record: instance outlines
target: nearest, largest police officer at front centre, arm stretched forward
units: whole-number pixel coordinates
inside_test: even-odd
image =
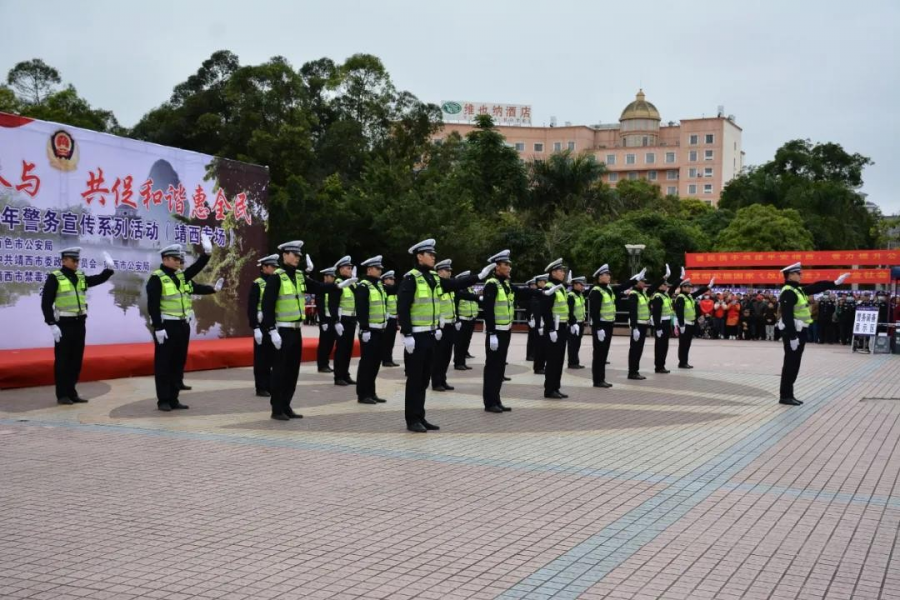
[[[478,277],[441,279],[432,269],[435,263],[435,241],[424,240],[412,246],[415,267],[404,275],[397,292],[397,319],[403,335],[406,357],[406,429],[425,433],[440,429],[425,420],[425,394],[431,379],[435,342],[443,332],[438,329],[441,314],[441,295],[446,290],[458,290],[484,280],[493,269],[485,267]]]

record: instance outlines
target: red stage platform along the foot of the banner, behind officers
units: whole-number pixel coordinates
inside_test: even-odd
[[[303,360],[316,359],[318,338],[304,338]],[[253,338],[192,340],[185,370],[249,367]],[[353,348],[359,356],[359,341]],[[84,349],[81,381],[153,374],[153,344],[108,344]],[[0,389],[53,385],[53,348],[0,350]]]

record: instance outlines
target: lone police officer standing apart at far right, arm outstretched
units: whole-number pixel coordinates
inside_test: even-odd
[[[812,313],[809,308],[809,297],[840,286],[850,276],[844,273],[835,281],[819,281],[812,285],[801,286],[803,267],[794,263],[781,270],[784,273],[784,287],[778,297],[781,308],[781,339],[784,342],[784,364],[781,369],[781,398],[779,403],[789,406],[803,404],[794,397],[794,382],[800,372],[800,361],[806,347],[806,332],[812,324]]]

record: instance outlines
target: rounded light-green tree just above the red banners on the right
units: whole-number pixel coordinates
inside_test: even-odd
[[[737,211],[716,241],[719,252],[813,250],[812,234],[793,209],[754,204]]]

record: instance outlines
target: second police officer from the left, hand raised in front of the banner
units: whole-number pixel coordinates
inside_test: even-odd
[[[156,380],[156,406],[163,412],[187,409],[178,400],[183,387],[184,365],[187,362],[191,322],[194,318],[193,295],[205,295],[222,289],[224,280],[215,286],[194,282],[194,277],[209,262],[212,241],[200,236],[203,254],[187,269],[184,266],[184,250],[180,244],[166,246],[160,252],[162,264],[147,280],[147,312],[153,326],[154,360]]]

